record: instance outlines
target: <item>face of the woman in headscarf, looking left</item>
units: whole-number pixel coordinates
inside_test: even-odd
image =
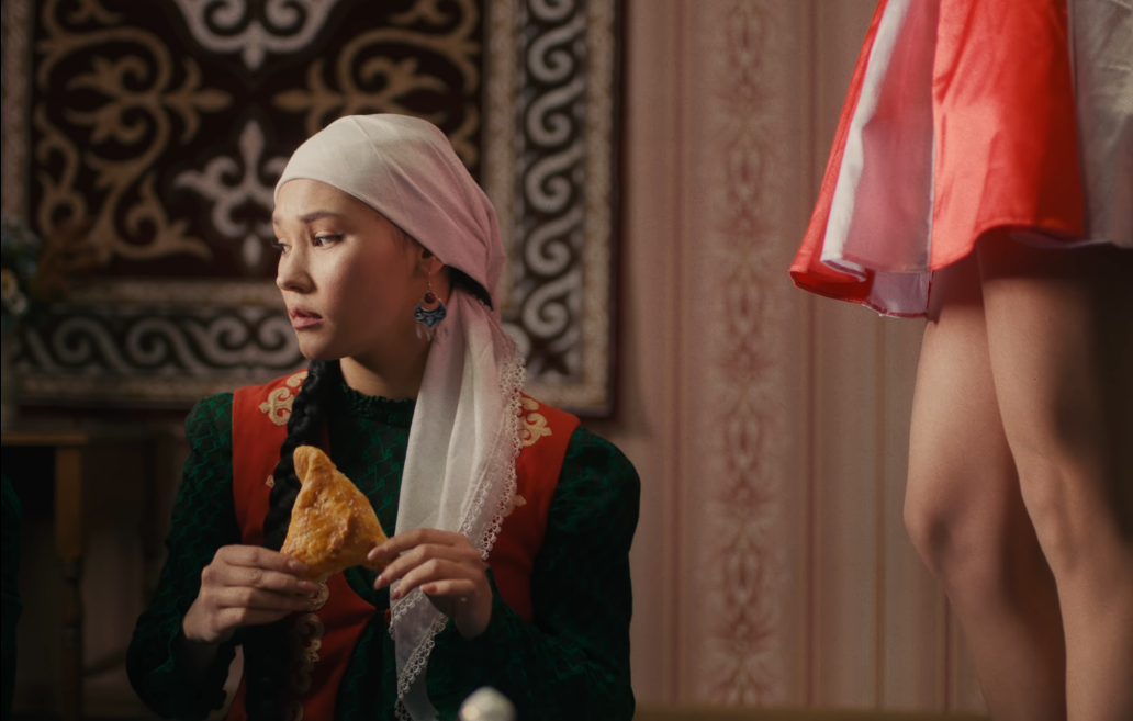
[[[393,223],[333,186],[296,179],[280,188],[272,225],[275,284],[306,358],[381,364],[419,343],[412,314],[428,264]]]

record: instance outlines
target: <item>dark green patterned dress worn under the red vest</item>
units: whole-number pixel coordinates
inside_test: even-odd
[[[331,458],[369,498],[386,529],[397,521],[412,413],[414,401],[365,396],[344,385],[332,394],[327,412]],[[222,687],[241,634],[197,677],[180,666],[176,649],[202,569],[216,549],[240,542],[232,499],[232,395],[197,403],[186,431],[190,450],[165,541],[169,557],[135,628],[127,670],[159,715],[202,719],[224,701]],[[454,719],[480,686],[511,698],[523,721],[633,716],[629,549],[639,493],[637,472],[616,447],[583,428],[574,431],[531,576],[535,617],[516,613],[493,584],[492,621],[483,635],[467,641],[449,623],[426,672],[441,719]],[[387,608],[389,591],[375,592],[374,578],[365,568],[347,572],[363,599]],[[395,688],[393,641],[378,612],[350,658],[335,718],[392,720]]]

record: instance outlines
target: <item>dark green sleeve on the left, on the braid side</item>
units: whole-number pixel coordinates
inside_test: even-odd
[[[221,647],[202,676],[188,673],[176,651],[181,620],[201,590],[201,572],[219,548],[240,542],[232,500],[232,394],[197,403],[185,430],[189,456],[165,539],[169,556],[134,628],[126,670],[134,690],[157,715],[203,719],[224,703],[237,640]]]

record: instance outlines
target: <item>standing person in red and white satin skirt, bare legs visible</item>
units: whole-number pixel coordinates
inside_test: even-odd
[[[798,285],[926,316],[905,521],[997,721],[1133,719],[1133,10],[888,0]]]

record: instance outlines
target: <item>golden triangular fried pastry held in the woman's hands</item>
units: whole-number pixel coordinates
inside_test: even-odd
[[[280,551],[307,565],[307,578],[324,581],[351,566],[381,570],[366,559],[385,540],[373,506],[326,454],[314,446],[295,449],[299,495]]]

